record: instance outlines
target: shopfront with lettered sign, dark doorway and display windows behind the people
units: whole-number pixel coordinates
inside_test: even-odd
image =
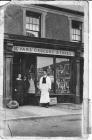
[[[67,95],[71,96],[73,101],[72,59],[75,56],[73,51],[22,46],[13,46],[12,51],[14,52],[13,81],[20,73],[22,77],[26,76],[30,83],[26,93],[28,104],[39,102],[39,80],[44,70],[47,70],[51,78],[50,96],[60,98],[60,96]],[[66,100],[62,99],[63,102],[69,101],[67,96]]]

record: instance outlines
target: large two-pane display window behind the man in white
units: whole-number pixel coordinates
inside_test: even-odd
[[[39,80],[43,76],[43,71],[47,70],[51,78],[50,94],[71,94],[71,61],[67,58],[37,57],[37,94],[39,90]]]

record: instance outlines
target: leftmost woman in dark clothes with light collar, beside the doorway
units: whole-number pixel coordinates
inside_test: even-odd
[[[23,105],[23,94],[24,94],[24,82],[21,77],[21,74],[18,74],[18,77],[15,81],[15,99],[19,103],[20,106]]]

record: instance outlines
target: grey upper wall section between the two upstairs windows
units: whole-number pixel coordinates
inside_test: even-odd
[[[46,38],[69,41],[68,17],[48,13],[46,16]]]

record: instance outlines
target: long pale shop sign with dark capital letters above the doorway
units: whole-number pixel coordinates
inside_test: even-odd
[[[34,47],[20,47],[13,46],[12,51],[14,52],[27,52],[27,53],[39,53],[39,54],[50,54],[50,55],[63,55],[63,56],[75,56],[73,51],[34,48]]]

